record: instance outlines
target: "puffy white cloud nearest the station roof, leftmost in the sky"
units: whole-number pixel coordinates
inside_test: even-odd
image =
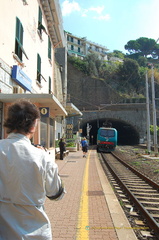
[[[62,3],[62,15],[63,16],[68,16],[70,15],[72,12],[81,11],[81,8],[79,6],[79,4],[75,1],[73,2],[69,2],[69,0],[65,0]]]

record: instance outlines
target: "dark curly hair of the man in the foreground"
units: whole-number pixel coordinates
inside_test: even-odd
[[[8,107],[8,116],[3,126],[7,128],[7,133],[14,130],[29,133],[38,118],[39,109],[29,100],[20,99]]]

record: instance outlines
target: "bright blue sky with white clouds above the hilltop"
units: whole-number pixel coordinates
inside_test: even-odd
[[[126,53],[140,37],[159,38],[159,0],[59,0],[64,30]]]

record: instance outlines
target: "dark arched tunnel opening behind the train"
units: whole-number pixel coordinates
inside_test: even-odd
[[[139,133],[127,122],[115,119],[98,119],[87,123],[81,123],[82,134],[87,136],[87,126],[89,125],[90,132],[88,140],[91,145],[96,145],[97,131],[99,127],[113,127],[118,131],[118,145],[137,145],[139,144]]]

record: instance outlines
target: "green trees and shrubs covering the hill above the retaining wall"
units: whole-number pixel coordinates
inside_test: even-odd
[[[83,60],[69,57],[68,61],[85,75],[102,79],[124,98],[125,102],[145,102],[145,73],[151,78],[151,68],[155,66],[155,82],[159,83],[159,44],[151,38],[130,40],[125,45],[128,54],[114,50],[107,54],[108,60],[100,60],[95,53]],[[112,60],[114,58],[114,60]],[[159,92],[159,86],[156,86]]]

